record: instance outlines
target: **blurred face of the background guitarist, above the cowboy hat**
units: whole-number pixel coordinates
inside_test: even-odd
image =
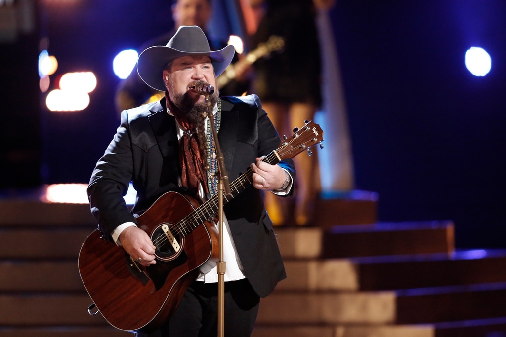
[[[178,0],[172,9],[176,28],[179,26],[199,26],[205,30],[210,16],[209,0]]]

